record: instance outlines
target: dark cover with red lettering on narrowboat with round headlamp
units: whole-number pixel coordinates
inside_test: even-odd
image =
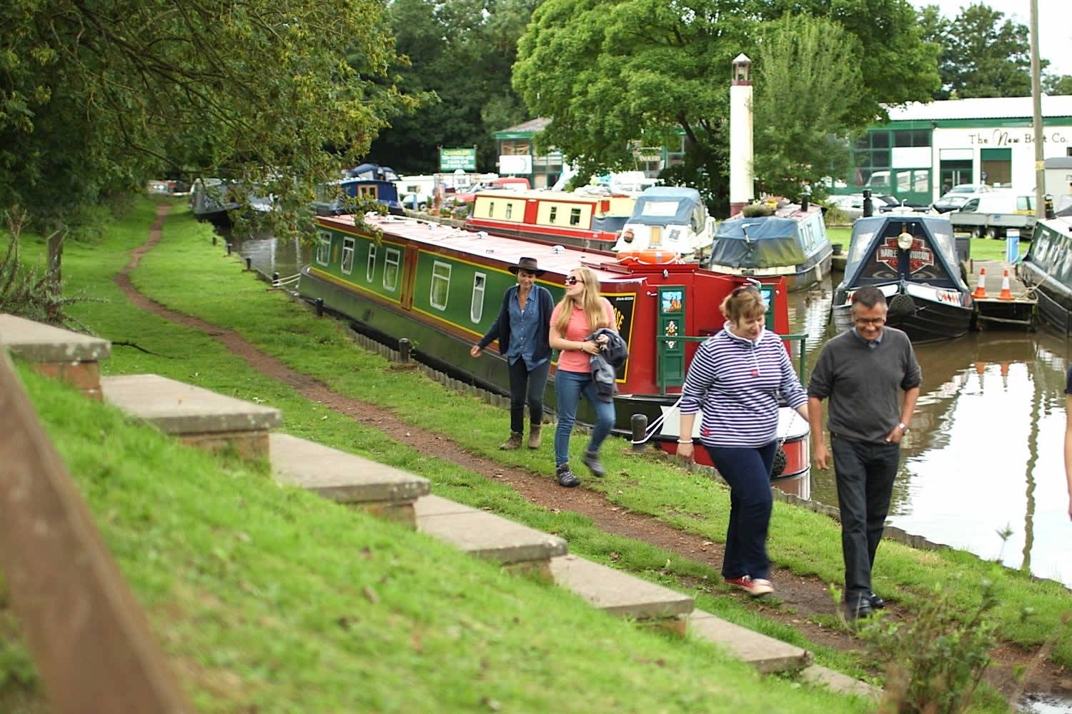
[[[905,256],[908,273],[903,273],[896,247],[902,231],[911,233],[917,244]],[[887,255],[889,254],[889,255]],[[956,261],[953,226],[949,218],[927,215],[878,215],[858,218],[845,264],[847,288],[909,279],[940,287],[967,289]]]

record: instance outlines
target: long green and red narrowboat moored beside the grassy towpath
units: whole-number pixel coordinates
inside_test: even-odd
[[[602,252],[493,237],[413,218],[369,214],[366,222],[382,231],[378,239],[355,226],[353,216],[317,218],[316,244],[311,263],[301,271],[299,293],[307,300],[323,300],[325,307],[353,320],[362,332],[388,341],[406,337],[419,354],[501,390],[508,389],[508,377],[497,345],[478,359],[471,358],[468,350],[497,317],[503,293],[516,284],[508,268],[523,256],[536,258],[546,271],[538,282],[555,301],[564,294],[571,269],[592,268],[604,297],[614,306],[617,331],[629,346],[629,359],[619,370],[614,430],[630,435],[634,414],[644,414],[650,424],[664,417],[653,442],[670,453],[676,450],[679,436],[678,410],[672,407],[688,361],[699,341],[721,329],[725,320],[718,306],[723,299],[748,282],[696,263],[620,260]],[[786,335],[785,278],[764,279],[759,287],[770,306],[768,328]],[[553,382],[546,400],[553,409]],[[582,401],[579,421],[592,423],[587,409]],[[807,424],[788,408],[783,412],[779,438],[785,438],[787,466],[781,475],[804,476],[809,460]],[[697,419],[697,430],[699,426]],[[698,458],[706,457],[703,450],[697,453]]]

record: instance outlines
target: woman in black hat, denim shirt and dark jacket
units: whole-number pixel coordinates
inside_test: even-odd
[[[510,371],[510,438],[500,449],[521,446],[525,401],[528,401],[528,447],[539,449],[540,424],[544,421],[544,391],[551,370],[551,345],[548,334],[554,300],[547,288],[536,285],[544,274],[535,258],[521,258],[510,272],[518,276],[517,286],[503,295],[491,330],[470,350],[480,356],[488,345],[498,340],[498,351],[506,358]]]

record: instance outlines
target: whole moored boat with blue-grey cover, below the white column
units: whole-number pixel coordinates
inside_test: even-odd
[[[772,215],[721,222],[708,267],[731,275],[784,275],[790,290],[801,290],[830,273],[833,253],[822,209],[790,203]]]

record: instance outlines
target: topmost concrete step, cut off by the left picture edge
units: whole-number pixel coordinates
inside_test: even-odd
[[[99,362],[111,356],[108,340],[14,315],[0,315],[0,345],[12,356],[31,363],[36,371],[66,382],[94,399],[101,398]]]

